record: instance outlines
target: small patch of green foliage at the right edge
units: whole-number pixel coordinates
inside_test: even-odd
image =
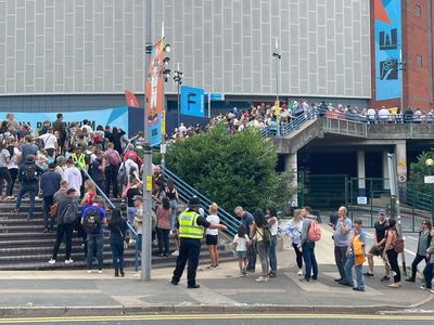
[[[424,177],[425,176],[434,176],[434,166],[426,166],[426,159],[434,159],[434,152],[423,152],[418,156],[418,161],[412,162],[410,165],[410,177],[408,186],[411,190],[425,193],[433,194],[434,184],[425,184]]]

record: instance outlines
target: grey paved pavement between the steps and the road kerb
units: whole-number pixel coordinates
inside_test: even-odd
[[[375,260],[373,278],[366,278],[366,291],[358,292],[334,282],[330,229],[322,226],[316,255],[318,281],[299,282],[295,255],[284,243],[278,252],[279,271],[268,283],[256,283],[259,275],[239,275],[238,262],[222,263],[218,270],[197,272],[201,288],[188,289],[186,278],[178,286],[169,283],[173,268],[153,270],[152,280],[140,281],[133,270],[126,277],[114,277],[113,270],[88,274],[85,270],[0,272],[0,317],[117,315],[136,313],[375,313],[399,311],[434,312],[434,295],[421,290],[420,282],[399,289],[381,283],[384,266]],[[410,257],[411,258],[411,257]],[[412,259],[412,258],[411,258]],[[260,270],[259,263],[256,266]],[[187,270],[186,270],[187,271]],[[186,276],[186,274],[184,274]]]

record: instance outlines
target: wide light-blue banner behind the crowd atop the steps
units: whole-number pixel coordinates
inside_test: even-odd
[[[13,113],[15,119],[23,123],[28,123],[34,131],[40,128],[44,120],[55,121],[58,112],[0,112],[0,120],[7,118],[8,113]],[[98,126],[111,126],[124,130],[128,134],[128,107],[95,108],[92,110],[62,112],[63,120],[66,123],[78,122],[81,125],[84,119],[90,121],[92,129]]]

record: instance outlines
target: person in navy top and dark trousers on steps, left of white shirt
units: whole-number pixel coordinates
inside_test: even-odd
[[[61,187],[62,177],[54,171],[55,164],[48,165],[48,170],[40,178],[40,190],[42,191],[43,232],[53,230],[54,220],[49,218],[50,207],[54,204],[54,193]]]

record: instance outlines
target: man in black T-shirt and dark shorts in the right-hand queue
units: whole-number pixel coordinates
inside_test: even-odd
[[[373,234],[373,246],[367,253],[368,258],[368,272],[363,275],[368,277],[373,277],[373,257],[374,256],[383,256],[384,246],[386,243],[386,231],[387,231],[387,216],[385,210],[379,211],[379,219],[376,220],[375,224],[375,232]],[[391,280],[391,270],[385,264],[386,274],[381,278],[381,281],[390,281]]]

